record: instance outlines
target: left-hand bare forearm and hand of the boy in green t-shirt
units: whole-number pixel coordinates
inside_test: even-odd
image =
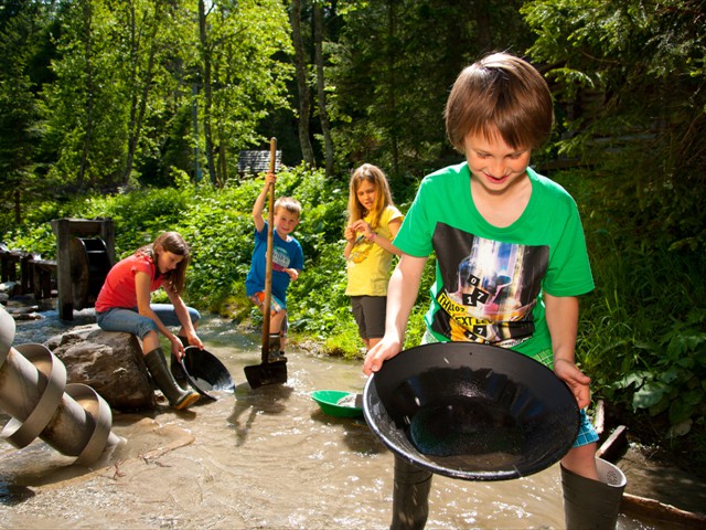
[[[385,337],[365,356],[363,372],[377,372],[383,362],[402,351],[409,314],[417,300],[426,257],[403,254],[387,286],[387,317]]]

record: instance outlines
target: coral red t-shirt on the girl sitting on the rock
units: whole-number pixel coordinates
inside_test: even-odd
[[[150,279],[150,293],[162,286],[162,276],[154,277],[156,266],[152,258],[145,254],[132,254],[118,262],[108,273],[98,298],[96,311],[103,312],[114,307],[132,309],[137,307],[135,273],[147,274]]]

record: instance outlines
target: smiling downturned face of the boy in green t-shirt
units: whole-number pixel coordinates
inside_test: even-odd
[[[530,148],[510,147],[499,134],[491,139],[483,134],[469,134],[463,145],[471,173],[489,193],[503,193],[526,176]]]

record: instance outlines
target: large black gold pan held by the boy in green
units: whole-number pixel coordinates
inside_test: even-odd
[[[505,480],[571,448],[579,411],[568,386],[515,351],[448,342],[402,351],[367,380],[363,412],[396,456],[439,475]]]

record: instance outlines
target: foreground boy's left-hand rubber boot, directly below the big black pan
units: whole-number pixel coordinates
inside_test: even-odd
[[[421,530],[429,516],[432,474],[395,456],[393,522],[389,530]]]

